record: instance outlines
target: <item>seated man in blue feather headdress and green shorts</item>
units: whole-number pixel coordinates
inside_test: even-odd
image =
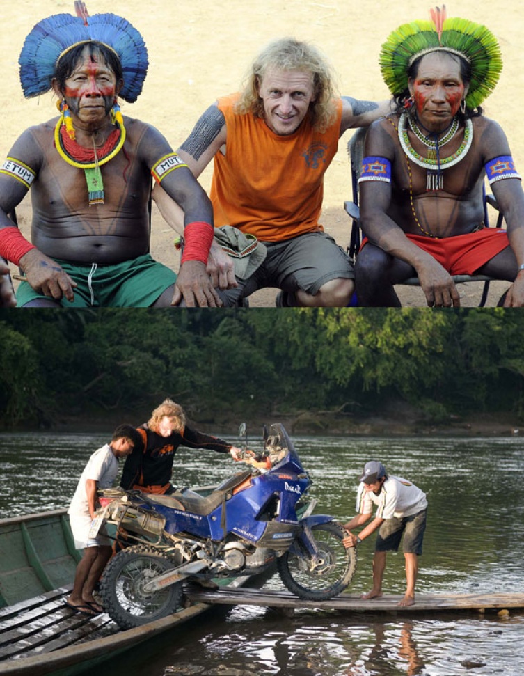
[[[148,70],[143,38],[113,14],[43,19],[19,58],[26,97],[54,91],[60,116],[26,129],[0,164],[0,256],[24,281],[19,307],[218,306],[206,273],[212,205],[162,134],[122,116]],[[177,277],[152,259],[152,177],[184,205]],[[8,214],[32,188],[32,242]]]

